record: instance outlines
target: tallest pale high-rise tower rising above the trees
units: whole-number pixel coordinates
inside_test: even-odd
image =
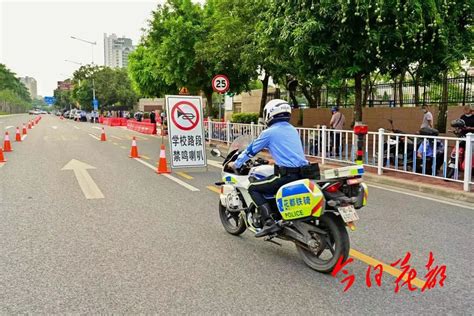
[[[111,68],[127,68],[128,55],[134,50],[132,40],[104,33],[104,64]]]

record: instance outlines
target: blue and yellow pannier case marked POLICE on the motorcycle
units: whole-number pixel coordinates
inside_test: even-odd
[[[293,181],[282,186],[276,194],[276,203],[284,220],[319,217],[323,214],[325,206],[323,192],[309,179]]]

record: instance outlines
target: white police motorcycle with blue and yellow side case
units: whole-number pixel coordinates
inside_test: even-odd
[[[365,134],[367,130],[365,129]],[[360,139],[362,157],[363,134]],[[211,154],[224,159],[219,199],[219,216],[224,229],[240,235],[246,229],[256,233],[263,227],[258,209],[248,193],[251,182],[271,176],[273,165],[263,158],[248,160],[239,170],[228,166],[251,143],[250,136],[240,136],[230,146],[227,156],[214,148]],[[350,242],[346,226],[355,230],[358,209],[367,204],[368,189],[362,181],[362,163],[326,170],[315,178],[283,185],[275,196],[266,196],[273,208],[273,219],[281,230],[266,236],[295,243],[303,261],[312,269],[331,272],[338,259],[349,256]]]

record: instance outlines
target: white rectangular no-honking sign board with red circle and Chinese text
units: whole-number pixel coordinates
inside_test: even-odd
[[[202,98],[166,96],[171,168],[207,167]]]

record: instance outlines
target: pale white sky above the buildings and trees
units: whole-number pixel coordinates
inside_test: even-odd
[[[57,81],[87,64],[104,64],[104,33],[131,38],[137,45],[158,0],[0,0],[0,63],[18,77],[37,81],[38,95],[51,96]]]

